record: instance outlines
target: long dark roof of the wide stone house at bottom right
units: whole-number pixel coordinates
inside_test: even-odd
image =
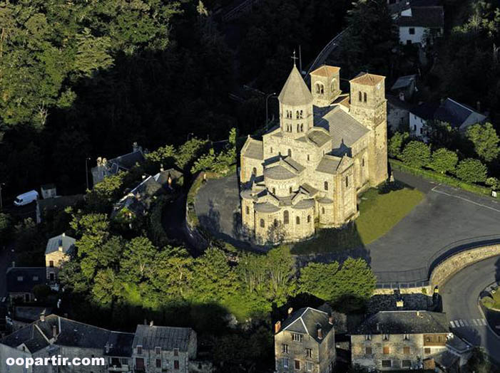
[[[354,335],[422,334],[449,332],[446,313],[429,311],[380,311],[359,325]]]

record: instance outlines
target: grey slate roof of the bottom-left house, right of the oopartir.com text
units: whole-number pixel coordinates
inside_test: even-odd
[[[195,332],[190,327],[137,325],[133,348],[142,345],[143,350],[161,347],[165,351],[178,348],[179,351],[187,352],[190,339],[193,337],[195,337]]]

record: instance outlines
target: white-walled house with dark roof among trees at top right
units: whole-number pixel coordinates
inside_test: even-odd
[[[425,46],[442,35],[444,9],[442,6],[411,6],[401,11],[396,23],[399,43]]]

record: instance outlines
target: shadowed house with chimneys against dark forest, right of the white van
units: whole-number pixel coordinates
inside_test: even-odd
[[[141,164],[144,162],[144,154],[143,148],[134,142],[132,152],[128,154],[113,159],[98,157],[97,166],[91,169],[93,185],[102,182],[105,177],[116,175],[119,171],[128,171],[136,164]]]

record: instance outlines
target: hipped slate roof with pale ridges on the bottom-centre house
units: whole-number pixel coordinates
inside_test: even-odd
[[[323,339],[317,337],[317,328],[321,327]],[[315,310],[314,308],[300,308],[282,322],[281,330],[289,332],[297,332],[303,335],[310,335],[317,342],[321,343],[325,340],[327,334],[332,330],[333,325],[328,322],[327,312]]]

